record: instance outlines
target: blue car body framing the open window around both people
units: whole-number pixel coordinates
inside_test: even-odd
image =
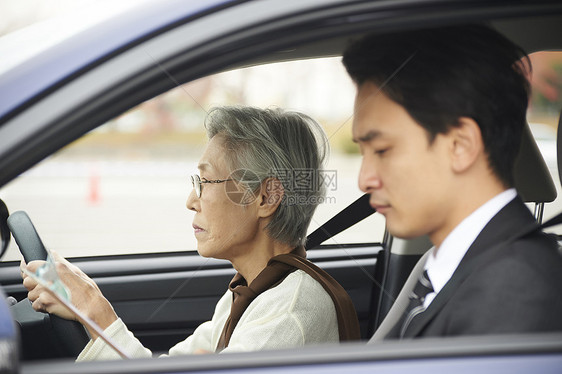
[[[307,50],[289,48],[293,43],[336,40],[338,33],[352,35],[369,24],[394,30],[526,14],[560,16],[562,7],[549,1],[141,3],[0,74],[0,187],[104,121],[177,84],[235,66],[308,56]],[[328,56],[337,51],[341,44],[318,53]],[[5,367],[18,370],[15,339],[8,309],[0,303],[0,372]],[[85,363],[79,370],[68,360],[23,362],[20,369],[59,374],[561,373],[562,335],[350,344],[225,355],[220,360],[207,356]]]

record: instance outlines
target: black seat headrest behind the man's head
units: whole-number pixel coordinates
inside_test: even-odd
[[[558,139],[560,136],[560,131],[558,131]],[[557,144],[558,171],[560,172],[561,142],[557,141]],[[515,159],[513,172],[515,188],[525,202],[549,203],[556,199],[556,186],[528,124],[523,129],[521,147]]]

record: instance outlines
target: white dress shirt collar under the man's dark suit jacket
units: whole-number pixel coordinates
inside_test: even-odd
[[[427,270],[434,292],[425,297],[424,306],[426,308],[451,279],[468,248],[488,222],[516,196],[517,192],[514,188],[496,195],[455,227],[443,240],[439,250],[436,250],[435,247],[430,249],[431,252],[424,268]]]

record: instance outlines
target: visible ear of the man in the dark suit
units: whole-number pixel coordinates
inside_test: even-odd
[[[453,171],[468,170],[484,155],[484,141],[478,123],[469,117],[460,117],[458,125],[451,128],[447,136],[451,139],[451,165]]]

